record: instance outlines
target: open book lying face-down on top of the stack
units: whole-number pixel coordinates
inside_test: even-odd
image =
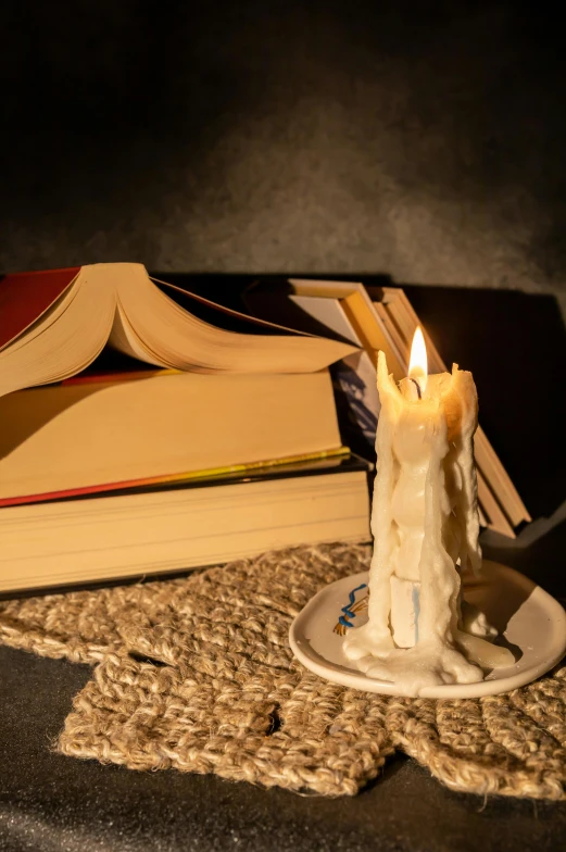
[[[200,318],[203,311],[246,333]],[[0,396],[73,376],[106,342],[149,364],[198,373],[312,373],[354,351],[153,281],[137,263],[8,275],[0,281]]]

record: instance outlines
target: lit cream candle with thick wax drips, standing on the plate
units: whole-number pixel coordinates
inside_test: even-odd
[[[406,694],[481,680],[483,669],[514,659],[486,641],[493,630],[485,619],[467,629],[462,619],[461,572],[481,566],[474,378],[457,365],[428,376],[417,329],[407,378],[398,387],[380,352],[377,387],[368,622],[349,632],[344,653]]]

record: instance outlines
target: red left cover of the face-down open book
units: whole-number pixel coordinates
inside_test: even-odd
[[[0,350],[39,320],[79,272],[80,266],[73,266],[0,278]]]

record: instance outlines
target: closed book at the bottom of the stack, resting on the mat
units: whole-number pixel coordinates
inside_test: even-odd
[[[355,456],[0,510],[0,592],[186,571],[275,548],[369,540]]]

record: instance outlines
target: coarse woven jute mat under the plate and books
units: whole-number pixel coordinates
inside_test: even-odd
[[[352,795],[401,749],[453,790],[566,798],[566,667],[505,696],[374,696],[306,672],[292,618],[366,546],[271,552],[188,578],[0,603],[0,641],[90,663],[58,749],[131,769]]]

